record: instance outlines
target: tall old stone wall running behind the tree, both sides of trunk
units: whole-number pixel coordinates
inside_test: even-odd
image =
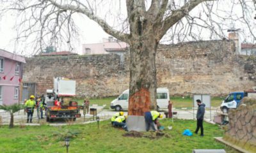
[[[207,93],[212,96],[255,86],[256,61],[236,54],[232,41],[197,41],[159,45],[157,85],[172,95]],[[24,82],[36,82],[43,94],[53,77],[77,82],[79,96],[116,96],[129,88],[129,54],[72,55],[26,59]]]

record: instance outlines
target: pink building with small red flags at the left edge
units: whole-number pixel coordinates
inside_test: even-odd
[[[19,103],[24,63],[24,57],[0,49],[0,105]]]

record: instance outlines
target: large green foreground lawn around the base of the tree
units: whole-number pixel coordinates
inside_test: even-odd
[[[168,119],[160,121],[163,126],[172,125]],[[194,120],[175,120],[172,130],[164,130],[165,136],[158,139],[132,138],[122,136],[125,131],[113,128],[109,121],[72,126],[16,126],[0,128],[1,152],[65,152],[63,138],[54,135],[69,129],[81,133],[70,140],[70,152],[192,152],[193,149],[225,149],[214,140],[222,136],[223,131],[216,125],[204,123],[205,136],[182,136],[184,129],[194,131]]]

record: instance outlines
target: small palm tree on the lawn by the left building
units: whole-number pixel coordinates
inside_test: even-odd
[[[0,105],[0,110],[5,110],[6,112],[9,112],[11,115],[10,124],[9,124],[10,128],[13,128],[13,121],[14,121],[13,113],[18,112],[21,109],[22,109],[22,106],[19,104]]]

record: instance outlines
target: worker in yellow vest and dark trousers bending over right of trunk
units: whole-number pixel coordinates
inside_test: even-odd
[[[150,129],[150,127],[152,127],[152,129],[154,131],[157,131],[157,129],[155,127],[155,122],[157,124],[158,123],[157,119],[158,118],[162,119],[163,115],[161,113],[157,112],[156,110],[152,110],[150,112],[145,112],[144,117],[145,117],[145,122],[146,122],[146,130],[148,131]]]

